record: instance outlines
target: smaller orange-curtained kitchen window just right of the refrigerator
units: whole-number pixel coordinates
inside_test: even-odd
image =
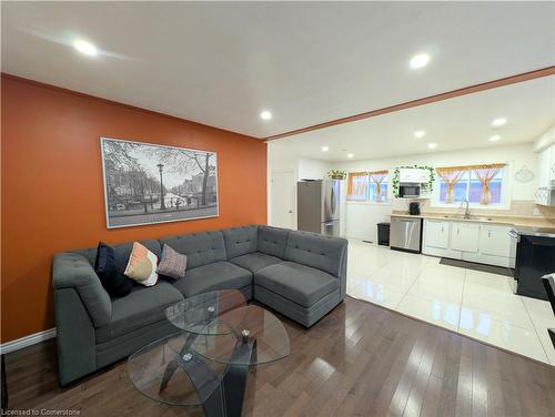
[[[387,200],[387,171],[351,172],[347,200],[383,203]]]

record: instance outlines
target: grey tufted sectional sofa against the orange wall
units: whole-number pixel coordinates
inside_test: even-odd
[[[174,333],[164,309],[195,294],[240,289],[248,301],[256,299],[305,327],[345,297],[347,241],[343,238],[253,225],[141,243],[157,256],[163,244],[185,254],[185,277],[135,286],[128,296],[111,299],[93,269],[95,247],[54,255],[61,385]],[[132,245],[114,250],[127,262]],[[123,263],[118,265],[119,272],[124,268]]]

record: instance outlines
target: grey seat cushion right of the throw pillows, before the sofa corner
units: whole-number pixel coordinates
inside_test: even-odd
[[[230,262],[213,264],[186,269],[183,279],[178,279],[173,286],[185,297],[218,289],[240,289],[251,285],[252,274]]]

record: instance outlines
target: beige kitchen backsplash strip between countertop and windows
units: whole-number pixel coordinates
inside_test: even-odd
[[[396,200],[392,202],[393,211],[408,211],[407,200]],[[534,210],[537,208],[537,214]],[[421,200],[422,213],[457,213],[463,212],[464,207],[460,208],[444,208],[431,206],[430,200]],[[471,213],[490,214],[490,215],[508,215],[508,216],[534,216],[544,218],[555,218],[555,207],[547,207],[537,205],[532,200],[513,200],[509,210],[495,210],[495,208],[475,208],[471,207]]]

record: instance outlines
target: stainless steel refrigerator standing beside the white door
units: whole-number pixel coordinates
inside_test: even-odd
[[[296,183],[296,228],[339,236],[340,180],[300,181]]]

